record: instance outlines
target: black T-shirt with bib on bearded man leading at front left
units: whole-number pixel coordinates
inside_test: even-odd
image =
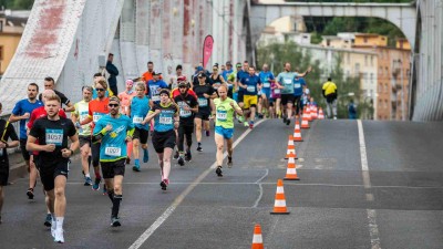
[[[39,144],[55,145],[53,152],[39,152],[39,158],[43,162],[66,162],[69,158],[62,156],[62,148],[68,148],[68,137],[76,134],[76,129],[71,120],[60,117],[58,121],[50,121],[48,116],[39,118],[33,124],[29,135],[39,139]],[[41,164],[40,167],[44,167]]]

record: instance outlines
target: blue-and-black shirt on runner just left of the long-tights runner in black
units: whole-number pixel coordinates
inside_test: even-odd
[[[166,105],[158,103],[150,113],[156,110],[159,110],[161,113],[154,117],[154,131],[163,133],[174,129],[174,116],[178,112],[178,106],[172,102]]]

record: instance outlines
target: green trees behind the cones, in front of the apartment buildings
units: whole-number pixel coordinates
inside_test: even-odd
[[[353,93],[354,96],[361,96],[360,80],[359,77],[344,77],[343,70],[341,69],[341,56],[336,56],[337,63],[332,69],[329,76],[337,84],[338,87],[338,117],[348,118],[348,104],[351,100],[349,93]],[[293,42],[271,43],[266,46],[257,48],[257,63],[258,68],[262,64],[269,64],[272,73],[277,76],[279,72],[284,71],[284,63],[289,62],[291,70],[305,72],[310,65],[312,72],[305,79],[310,90],[311,97],[326,110],[326,100],[322,96],[322,85],[326,82],[322,71],[320,69],[320,61],[312,60],[310,50],[306,50],[303,53],[299,45]],[[358,102],[358,101],[357,101]],[[359,105],[358,115],[363,112],[371,112],[369,106]],[[373,113],[373,110],[372,110]],[[360,115],[359,115],[360,116]]]

